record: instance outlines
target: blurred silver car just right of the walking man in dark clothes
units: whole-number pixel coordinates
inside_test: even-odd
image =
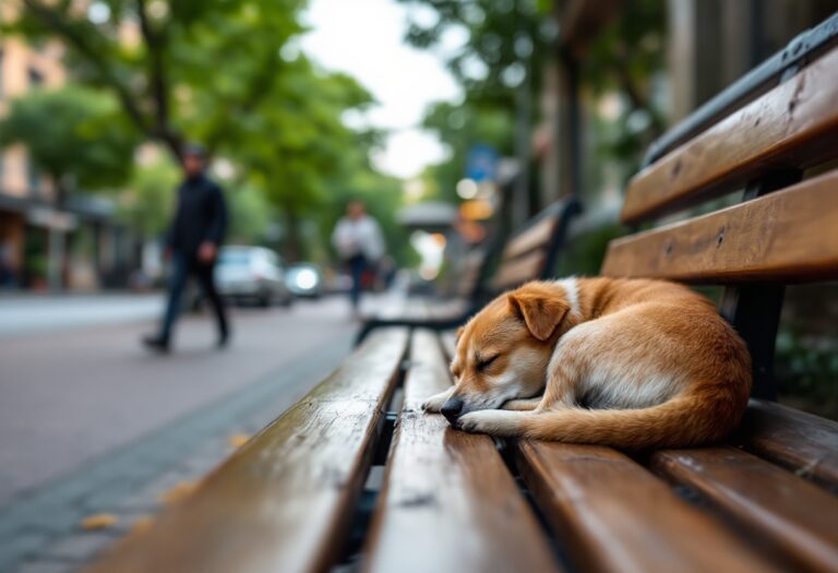
[[[263,307],[273,302],[291,303],[285,286],[285,270],[278,254],[264,247],[222,247],[215,266],[218,291],[236,301],[253,301]]]

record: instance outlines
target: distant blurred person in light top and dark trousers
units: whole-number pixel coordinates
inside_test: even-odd
[[[384,255],[381,227],[367,214],[363,203],[352,201],[346,207],[346,215],[337,222],[332,242],[352,278],[349,300],[357,315],[364,277],[374,274],[375,265]]]

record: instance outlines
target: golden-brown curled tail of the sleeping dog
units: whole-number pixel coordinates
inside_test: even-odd
[[[720,440],[733,430],[747,404],[744,390],[709,387],[647,408],[532,411],[507,421],[515,427],[510,433],[540,440],[628,450],[684,447]]]

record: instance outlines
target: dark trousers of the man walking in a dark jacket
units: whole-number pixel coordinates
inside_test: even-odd
[[[227,315],[224,310],[224,300],[222,300],[218,290],[215,288],[215,278],[213,277],[215,263],[203,263],[197,260],[196,255],[189,256],[182,253],[175,253],[171,258],[171,262],[169,300],[166,306],[166,317],[163,321],[160,337],[167,343],[171,338],[175,321],[178,320],[178,314],[180,313],[183,289],[187,286],[189,277],[194,276],[215,312],[215,318],[218,323],[219,339],[226,338],[228,334]]]

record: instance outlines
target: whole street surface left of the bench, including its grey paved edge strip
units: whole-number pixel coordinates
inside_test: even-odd
[[[165,490],[229,455],[231,435],[259,431],[325,378],[357,327],[342,298],[240,308],[232,344],[217,350],[208,314],[185,315],[175,351],[157,356],[140,337],[161,305],[0,300],[0,570],[84,563],[159,511]],[[121,526],[80,532],[96,512]]]

